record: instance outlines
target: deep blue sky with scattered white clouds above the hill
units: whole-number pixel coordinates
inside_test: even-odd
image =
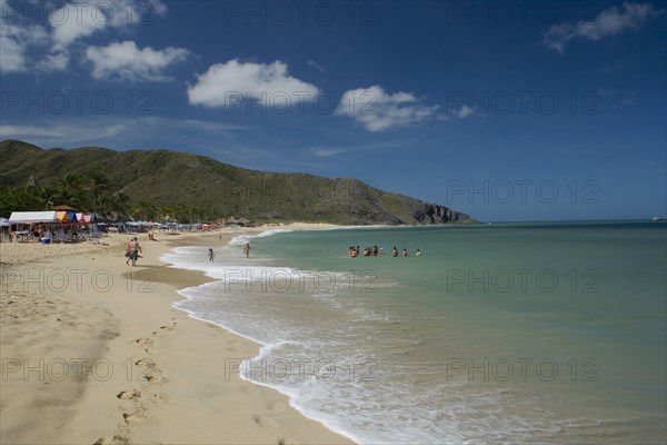
[[[667,214],[665,2],[0,6],[2,139],[356,177],[480,220]]]

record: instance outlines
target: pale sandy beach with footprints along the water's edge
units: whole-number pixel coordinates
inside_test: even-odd
[[[328,228],[290,228],[318,227]],[[270,228],[139,235],[136,268],[125,264],[127,235],[0,244],[0,443],[350,443],[239,378],[258,344],[171,306],[176,290],[210,278],[160,255]]]

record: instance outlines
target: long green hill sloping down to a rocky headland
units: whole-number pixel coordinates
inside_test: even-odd
[[[255,171],[177,151],[44,150],[4,140],[0,159],[2,216],[68,204],[83,211],[116,211],[136,219],[475,222],[447,207],[386,192],[357,179]]]

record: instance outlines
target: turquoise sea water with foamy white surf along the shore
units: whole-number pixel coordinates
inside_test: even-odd
[[[271,231],[213,264],[207,249],[166,256],[218,279],[177,306],[260,342],[241,376],[358,442],[665,442],[664,222]]]

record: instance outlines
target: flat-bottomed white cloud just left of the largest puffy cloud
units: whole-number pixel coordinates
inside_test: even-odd
[[[107,47],[88,47],[86,50],[86,58],[92,63],[92,77],[96,79],[119,77],[131,81],[163,81],[168,78],[162,70],[187,57],[188,51],[183,48],[139,49],[130,40]]]

